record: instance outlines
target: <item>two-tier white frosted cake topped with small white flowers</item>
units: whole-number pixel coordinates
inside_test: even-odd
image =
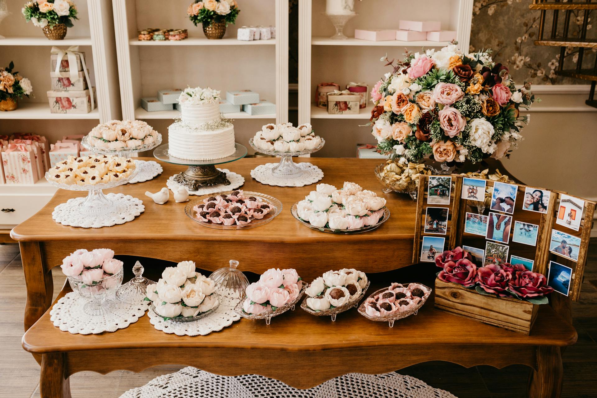
[[[234,126],[220,118],[220,91],[187,88],[179,103],[181,120],[168,127],[168,155],[208,161],[235,152]]]

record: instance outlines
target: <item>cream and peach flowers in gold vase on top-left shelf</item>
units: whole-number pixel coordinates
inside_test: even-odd
[[[70,0],[29,1],[21,9],[21,13],[27,22],[32,21],[38,27],[53,27],[59,23],[73,27],[71,18],[79,19],[76,5]]]

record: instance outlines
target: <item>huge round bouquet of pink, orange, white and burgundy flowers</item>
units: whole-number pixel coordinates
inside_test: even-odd
[[[454,42],[407,53],[396,64],[381,58],[393,71],[371,90],[378,149],[414,163],[427,155],[448,164],[509,156],[529,120],[519,112],[535,98],[530,84],[516,88],[508,68],[490,54],[464,54]]]

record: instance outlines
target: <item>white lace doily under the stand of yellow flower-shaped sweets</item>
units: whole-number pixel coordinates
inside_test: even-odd
[[[109,193],[106,198],[115,203],[113,212],[94,215],[79,212],[79,204],[85,201],[85,196],[83,196],[69,199],[66,203],[56,206],[52,212],[52,218],[64,226],[101,228],[133,221],[135,217],[145,211],[143,202],[131,195]]]

